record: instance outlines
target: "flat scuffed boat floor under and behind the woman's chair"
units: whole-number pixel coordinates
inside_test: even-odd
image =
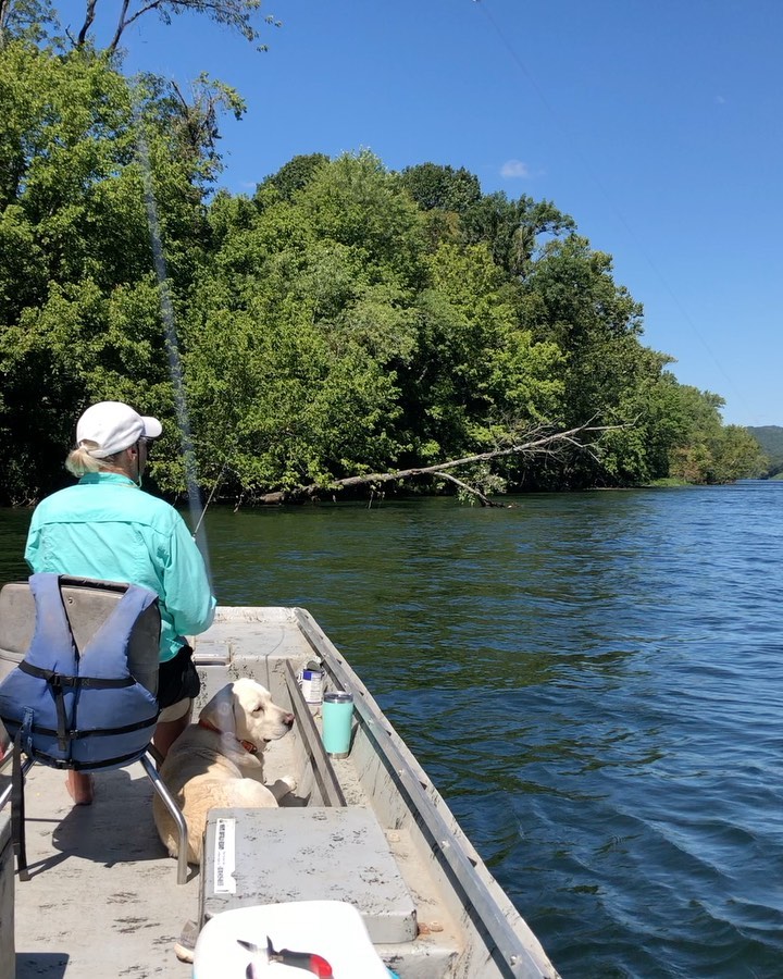
[[[35,766],[25,789],[30,879],[16,880],[16,977],[188,977],[174,943],[198,908],[198,875],[176,863],[152,822],[140,765],[96,776],[73,807],[64,773]]]

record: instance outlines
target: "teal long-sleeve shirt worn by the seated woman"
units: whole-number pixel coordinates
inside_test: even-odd
[[[212,622],[215,599],[185,521],[119,473],[89,473],[36,507],[25,560],[33,571],[123,581],[157,592],[161,661]]]

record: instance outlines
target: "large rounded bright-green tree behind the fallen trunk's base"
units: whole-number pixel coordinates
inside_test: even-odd
[[[415,344],[419,211],[369,153],[261,193],[254,214],[215,199],[220,248],[187,317],[202,468],[264,491],[384,464]]]

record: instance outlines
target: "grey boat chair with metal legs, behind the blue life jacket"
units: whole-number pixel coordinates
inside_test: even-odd
[[[122,582],[59,577],[59,592],[62,597],[62,606],[65,610],[76,650],[85,650],[87,648],[103,623],[115,612],[120,600],[127,591],[128,585]],[[0,590],[0,681],[4,680],[22,662],[30,647],[35,630],[36,602],[29,582],[12,582],[4,585]],[[153,696],[158,693],[159,637],[160,611],[158,603],[153,602],[135,619],[127,645],[127,668],[130,676]],[[110,690],[98,690],[94,692],[94,696],[110,692]],[[136,720],[136,718],[133,720]],[[2,745],[0,745],[1,747]],[[21,751],[24,752],[24,746],[21,746]],[[0,809],[15,796],[13,808],[18,811],[16,822],[21,822],[21,825],[14,834],[16,838],[14,848],[16,850],[20,879],[27,880],[28,873],[24,852],[24,778],[36,761],[39,764],[47,764],[47,761],[41,759],[40,755],[33,758],[29,753],[26,753],[26,757],[20,764],[20,754],[10,751],[0,763],[0,767],[4,767],[16,755],[15,764],[20,765],[18,788],[14,792],[14,780],[12,779],[0,791]],[[158,765],[162,759],[151,742],[147,744],[141,755],[137,753],[135,757],[124,764],[80,766],[58,760],[52,763],[52,767],[65,770],[70,768],[84,768],[87,770],[88,768],[90,771],[98,771],[101,767],[124,768],[135,760],[141,763],[154,791],[160,795],[177,826],[179,834],[177,883],[184,884],[188,878],[187,826],[177,804],[158,774]]]

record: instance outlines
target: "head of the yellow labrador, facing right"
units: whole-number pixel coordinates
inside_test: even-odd
[[[294,724],[294,715],[273,704],[266,687],[247,677],[217,691],[199,717],[224,734],[249,741],[260,752]]]

